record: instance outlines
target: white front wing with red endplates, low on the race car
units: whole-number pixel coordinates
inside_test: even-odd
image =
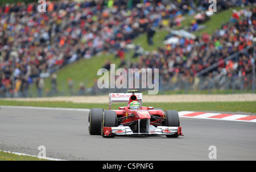
[[[167,126],[154,127],[150,125],[149,132],[133,132],[131,128],[128,126],[104,127],[102,136],[111,137],[111,136],[125,136],[125,135],[174,135],[174,134],[183,136],[181,132],[181,127],[167,127]]]

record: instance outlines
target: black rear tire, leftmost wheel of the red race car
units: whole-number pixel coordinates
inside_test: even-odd
[[[90,135],[101,135],[101,117],[104,109],[93,108],[89,111],[88,130]]]

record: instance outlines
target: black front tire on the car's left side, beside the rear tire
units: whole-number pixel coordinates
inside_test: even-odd
[[[117,113],[113,110],[105,110],[101,118],[101,135],[103,137],[103,128],[104,127],[117,127]],[[114,135],[112,136],[114,137]]]

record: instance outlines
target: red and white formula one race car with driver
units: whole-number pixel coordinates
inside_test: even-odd
[[[137,92],[110,93],[109,110],[90,109],[89,134],[103,137],[183,135],[177,111],[163,111],[160,108],[142,106],[142,93]],[[112,102],[127,102],[127,106],[119,107],[119,110],[111,110]]]

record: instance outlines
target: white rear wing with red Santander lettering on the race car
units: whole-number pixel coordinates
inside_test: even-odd
[[[111,110],[112,102],[129,102],[131,95],[137,97],[137,101],[142,106],[142,93],[109,93],[109,110]]]

